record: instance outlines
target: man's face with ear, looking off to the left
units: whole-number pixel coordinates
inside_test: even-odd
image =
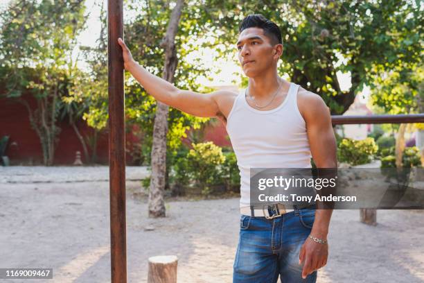
[[[276,64],[282,45],[273,45],[262,28],[246,28],[238,35],[238,61],[246,76],[254,77]],[[281,46],[281,47],[278,47]]]

